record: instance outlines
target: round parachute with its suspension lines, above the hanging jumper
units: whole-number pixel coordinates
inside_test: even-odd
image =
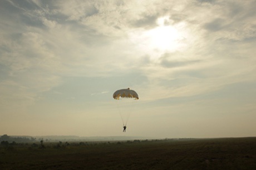
[[[115,91],[113,98],[117,102],[122,123],[126,126],[131,114],[132,105],[134,104],[134,101],[139,99],[139,96],[136,91],[128,88]]]

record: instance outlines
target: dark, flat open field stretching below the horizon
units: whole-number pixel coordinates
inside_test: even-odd
[[[0,147],[0,169],[256,169],[256,137],[27,143]]]

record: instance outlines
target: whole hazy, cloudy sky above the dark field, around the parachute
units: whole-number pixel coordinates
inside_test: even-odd
[[[0,1],[0,135],[256,136],[255,6]]]

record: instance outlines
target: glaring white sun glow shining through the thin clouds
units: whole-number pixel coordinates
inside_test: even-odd
[[[182,50],[186,46],[184,24],[174,26],[168,17],[163,17],[157,19],[157,25],[153,29],[131,34],[132,42],[136,43],[137,48],[161,54]]]

